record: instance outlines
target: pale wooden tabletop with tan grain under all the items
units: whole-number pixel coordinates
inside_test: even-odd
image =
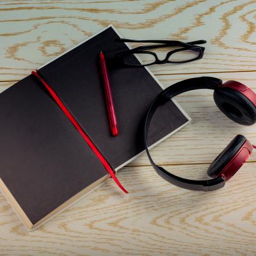
[[[256,1],[244,0],[0,1],[0,88],[112,23],[127,38],[207,40],[200,61],[150,68],[164,86],[215,76],[256,90],[255,22]],[[152,150],[173,173],[204,179],[236,134],[256,143],[255,125],[228,120],[212,92],[177,101],[191,123]],[[255,161],[224,189],[201,193],[165,182],[143,154],[118,173],[129,195],[108,180],[33,232],[0,195],[0,255],[256,255]]]

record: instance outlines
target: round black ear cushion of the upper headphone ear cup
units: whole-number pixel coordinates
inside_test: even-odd
[[[220,86],[214,90],[213,97],[218,108],[234,122],[242,125],[256,123],[256,108],[241,92]]]

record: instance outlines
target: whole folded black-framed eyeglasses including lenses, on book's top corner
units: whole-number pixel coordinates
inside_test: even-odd
[[[204,56],[204,47],[200,47],[196,44],[205,44],[205,40],[198,40],[193,42],[180,42],[172,40],[131,40],[126,38],[118,38],[116,42],[140,42],[140,43],[153,43],[154,45],[143,45],[134,49],[118,52],[115,56],[118,63],[122,63],[125,66],[131,67],[145,67],[154,64],[165,64],[165,63],[186,63],[189,61],[200,60]],[[164,48],[164,47],[180,47],[173,51],[169,51],[166,54],[164,60],[159,60],[157,54],[151,49]],[[140,63],[136,58],[133,57],[136,54],[143,60]]]

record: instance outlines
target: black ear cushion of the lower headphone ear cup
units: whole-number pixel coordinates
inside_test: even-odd
[[[236,156],[236,153],[244,145],[246,138],[239,134],[237,135],[225,149],[217,156],[214,161],[211,163],[207,170],[207,174],[214,178],[227,166],[230,160]]]

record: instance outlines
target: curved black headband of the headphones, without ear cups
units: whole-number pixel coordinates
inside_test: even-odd
[[[215,77],[196,77],[191,79],[186,79],[184,81],[180,81],[179,83],[173,84],[172,86],[163,90],[163,92],[159,93],[157,97],[153,100],[150,108],[148,109],[145,126],[144,126],[144,145],[150,160],[150,163],[156,170],[156,172],[165,180],[172,183],[175,186],[179,186],[180,188],[197,190],[197,191],[213,191],[216,189],[223,188],[225,185],[225,180],[221,177],[216,179],[209,180],[189,180],[184,179],[182,177],[173,175],[170,172],[167,172],[162,166],[158,166],[154,163],[152,157],[150,156],[148,150],[148,128],[150,122],[152,120],[152,116],[154,115],[156,109],[171,100],[176,95],[180,93],[188,92],[191,90],[198,89],[211,89],[214,90],[218,86],[222,84],[222,81]]]

